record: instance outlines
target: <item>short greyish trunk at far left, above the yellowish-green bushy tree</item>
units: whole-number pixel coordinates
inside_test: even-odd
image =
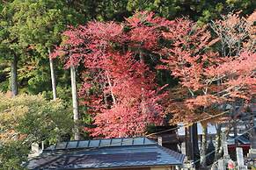
[[[18,57],[16,54],[13,55],[11,61],[11,96],[18,95]]]

